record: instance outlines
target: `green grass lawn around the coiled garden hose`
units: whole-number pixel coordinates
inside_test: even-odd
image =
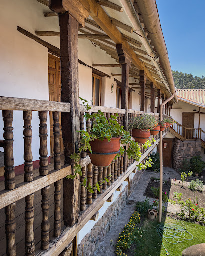
[[[162,219],[162,223],[165,224],[177,224],[181,225],[181,223],[175,219],[172,219],[170,217],[165,217]],[[186,230],[189,231],[193,235],[193,239],[190,241],[183,241],[181,243],[177,244],[171,244],[163,240],[163,244],[167,251],[169,252],[170,256],[181,256],[182,251],[194,244],[198,243],[205,243],[205,226],[197,225],[193,222],[187,222],[187,221],[181,221],[185,227]],[[143,246],[140,248],[140,246],[137,246],[137,249],[134,250],[134,253],[132,255],[134,256],[165,256],[166,251],[163,248],[161,244],[161,240],[159,238],[159,235],[157,234],[156,226],[158,225],[157,221],[149,221],[144,220],[141,229],[143,229]],[[127,253],[128,255],[131,255],[130,253]]]

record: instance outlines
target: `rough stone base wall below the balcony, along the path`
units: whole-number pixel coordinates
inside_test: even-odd
[[[104,215],[96,222],[91,231],[85,235],[81,243],[78,245],[78,256],[82,256],[82,244],[84,244],[84,256],[92,256],[94,251],[98,248],[99,243],[103,240],[110,227],[117,222],[117,218],[121,210],[124,208],[128,195],[132,191],[144,171],[138,171],[130,181],[130,190],[127,186],[118,195],[117,199],[108,207]]]

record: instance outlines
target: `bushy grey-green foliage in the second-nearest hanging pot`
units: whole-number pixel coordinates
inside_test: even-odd
[[[130,120],[128,130],[152,130],[155,126],[157,126],[157,120],[155,117],[152,115],[143,114]]]

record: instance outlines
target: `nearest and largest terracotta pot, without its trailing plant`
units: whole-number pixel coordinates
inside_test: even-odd
[[[103,141],[99,139],[90,141],[92,154],[90,152],[87,153],[92,164],[96,166],[108,166],[119,153],[120,138],[111,138],[111,141],[108,141],[107,138]]]

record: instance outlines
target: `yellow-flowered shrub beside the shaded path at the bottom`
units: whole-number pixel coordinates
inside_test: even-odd
[[[142,231],[136,225],[140,223],[140,215],[137,211],[132,214],[129,223],[125,225],[123,231],[119,234],[119,239],[116,243],[116,255],[126,256],[123,251],[127,251],[131,244],[139,243],[142,239]]]

